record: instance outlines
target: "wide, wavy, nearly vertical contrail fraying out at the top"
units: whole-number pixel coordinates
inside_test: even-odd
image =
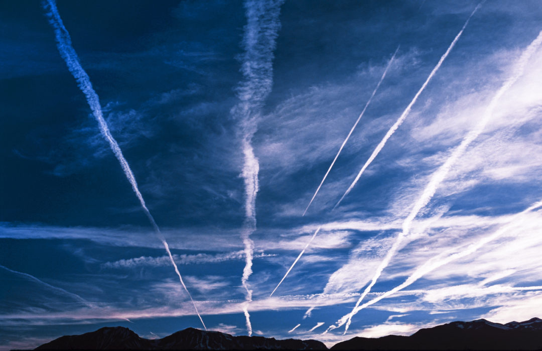
[[[254,155],[251,140],[256,132],[256,119],[261,113],[264,100],[273,84],[273,51],[280,28],[279,14],[282,0],[256,1],[244,3],[247,25],[243,35],[243,62],[241,72],[244,81],[237,89],[241,100],[231,113],[240,120],[241,143],[243,149],[243,171],[245,187],[245,221],[241,232],[243,239],[245,266],[241,284],[244,288],[246,302],[243,313],[247,321],[248,335],[252,335],[252,325],[248,305],[252,301],[252,290],[248,278],[252,274],[252,258],[254,242],[250,234],[256,230],[256,195],[259,189],[258,172],[260,164]]]

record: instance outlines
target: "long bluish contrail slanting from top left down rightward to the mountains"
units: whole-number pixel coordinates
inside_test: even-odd
[[[196,303],[193,301],[192,296],[190,295],[190,292],[186,288],[186,285],[183,282],[183,278],[180,276],[179,270],[177,269],[177,265],[175,264],[175,261],[173,260],[173,257],[171,256],[171,251],[169,249],[169,246],[167,245],[167,242],[164,238],[164,235],[162,235],[162,232],[160,232],[160,228],[156,224],[156,221],[154,221],[153,216],[149,212],[149,209],[145,205],[145,200],[143,199],[143,195],[139,192],[139,188],[137,186],[137,182],[135,181],[135,177],[132,173],[132,170],[130,169],[130,165],[128,165],[128,162],[124,158],[124,155],[122,155],[122,151],[120,150],[119,144],[113,136],[111,135],[111,132],[109,132],[109,127],[107,126],[107,123],[105,122],[104,116],[102,114],[102,109],[100,105],[100,100],[98,98],[98,94],[94,91],[91,83],[91,79],[89,78],[88,74],[85,72],[85,69],[81,66],[81,63],[79,62],[79,57],[77,53],[75,52],[74,48],[72,47],[72,39],[70,39],[68,30],[66,27],[64,27],[64,24],[62,23],[62,18],[60,17],[59,11],[56,8],[55,0],[47,0],[47,2],[43,3],[43,8],[47,11],[47,17],[49,18],[49,23],[53,26],[55,30],[56,35],[56,46],[59,49],[60,55],[62,56],[62,59],[66,61],[66,65],[68,66],[69,71],[74,76],[75,80],[78,82],[78,86],[81,89],[81,91],[85,94],[87,98],[87,103],[91,107],[92,113],[94,115],[94,118],[98,122],[98,126],[100,128],[100,132],[102,136],[106,139],[106,141],[109,143],[109,146],[111,147],[111,150],[113,151],[113,154],[115,154],[115,157],[119,160],[120,167],[124,171],[124,174],[126,175],[126,178],[128,178],[128,181],[130,184],[132,184],[132,189],[135,193],[135,195],[138,197],[139,202],[141,203],[141,207],[143,208],[143,211],[145,212],[145,215],[147,218],[149,218],[149,221],[151,222],[151,225],[154,228],[154,232],[162,241],[162,244],[164,244],[164,247],[167,251],[167,254],[170,257],[171,263],[173,265],[173,268],[175,268],[175,273],[177,273],[177,276],[179,277],[180,284],[183,285],[184,290],[190,297],[190,301],[192,301],[192,304],[194,305],[194,309],[196,310],[196,313],[199,317],[199,320],[203,324],[203,328],[207,330],[207,327],[205,327],[205,323],[203,323],[201,315],[199,315],[199,311],[196,307]]]

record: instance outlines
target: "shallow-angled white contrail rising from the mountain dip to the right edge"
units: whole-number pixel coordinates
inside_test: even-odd
[[[364,309],[366,307],[369,307],[372,304],[377,303],[378,301],[382,300],[383,298],[389,297],[389,296],[393,295],[394,293],[396,293],[397,291],[406,288],[407,286],[409,286],[410,284],[416,282],[416,280],[420,279],[421,277],[423,277],[424,275],[430,273],[431,271],[434,271],[435,269],[437,269],[437,268],[439,268],[439,267],[441,267],[443,265],[446,265],[448,263],[451,263],[451,262],[453,262],[455,260],[461,259],[463,257],[466,257],[466,256],[476,252],[477,250],[479,250],[479,248],[483,247],[488,242],[491,242],[491,241],[493,241],[495,239],[498,239],[499,237],[501,237],[501,235],[507,233],[508,230],[514,225],[514,222],[517,222],[518,220],[521,220],[521,216],[523,216],[526,213],[531,212],[532,210],[534,210],[534,209],[536,209],[538,207],[541,207],[541,206],[542,206],[542,201],[538,201],[538,202],[534,203],[534,205],[532,205],[531,207],[529,207],[529,208],[523,210],[522,212],[517,213],[516,215],[514,215],[511,222],[509,222],[507,225],[501,227],[500,229],[498,229],[498,231],[494,232],[493,234],[488,235],[487,237],[479,240],[475,244],[469,245],[463,251],[451,254],[450,256],[448,256],[446,258],[442,258],[443,254],[438,254],[437,256],[429,259],[423,265],[418,267],[416,269],[416,271],[414,273],[412,273],[412,275],[405,280],[404,283],[396,286],[395,288],[393,288],[393,289],[391,289],[389,291],[384,292],[382,295],[379,295],[379,296],[373,298],[371,301],[366,302],[363,305],[356,307],[356,309],[354,309],[354,311],[353,311],[354,314],[356,314],[357,312],[359,312],[360,310],[362,310],[362,309]],[[531,288],[527,288],[527,289],[531,289]],[[526,289],[518,288],[518,290],[526,290]],[[337,324],[338,324],[337,326],[329,327],[324,333],[327,333],[327,331],[333,330],[335,328],[339,328],[344,323],[347,323],[347,321],[349,321],[349,320],[350,320],[350,314],[343,316],[337,322]]]

